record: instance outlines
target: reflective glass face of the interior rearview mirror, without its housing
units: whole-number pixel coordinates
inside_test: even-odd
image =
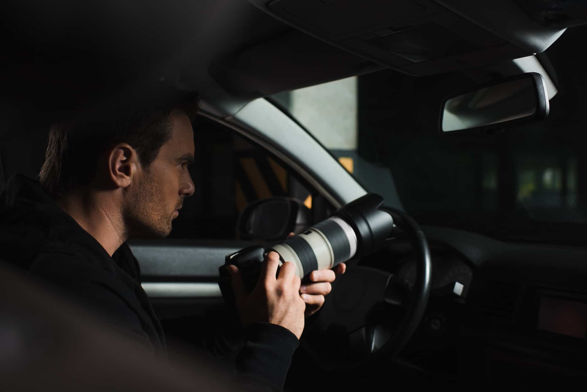
[[[532,116],[537,110],[534,79],[523,77],[496,83],[448,99],[441,130],[460,131]]]

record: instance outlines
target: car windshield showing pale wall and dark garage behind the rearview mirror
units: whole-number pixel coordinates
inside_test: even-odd
[[[463,72],[383,70],[273,99],[368,191],[421,225],[583,246],[587,72],[576,48],[584,32],[570,29],[538,55],[558,89],[549,117],[495,134],[438,133],[443,98],[476,85]]]

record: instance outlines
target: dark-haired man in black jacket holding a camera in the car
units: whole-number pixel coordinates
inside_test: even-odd
[[[160,322],[140,285],[129,238],[164,238],[194,192],[190,118],[194,94],[148,86],[118,94],[53,124],[39,181],[15,175],[2,194],[6,259],[100,315],[119,332],[166,357]],[[330,291],[334,271],[301,285],[291,262],[271,252],[251,293],[232,266],[244,346],[241,381],[279,389],[305,315]],[[344,265],[336,272],[343,273]],[[301,294],[301,292],[303,292]],[[211,339],[222,352],[230,339]],[[248,381],[247,381],[248,380]]]

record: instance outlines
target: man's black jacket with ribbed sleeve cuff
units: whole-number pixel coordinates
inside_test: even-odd
[[[150,347],[164,360],[161,324],[140,284],[137,259],[123,244],[110,257],[43,190],[38,181],[14,175],[0,195],[2,258],[41,279],[56,291],[99,314],[120,333]],[[243,332],[235,383],[279,390],[298,347],[284,327],[259,323]],[[211,352],[222,352],[222,339],[208,339]],[[197,389],[197,388],[196,388]]]

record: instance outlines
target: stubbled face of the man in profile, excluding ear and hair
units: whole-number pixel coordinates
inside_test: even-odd
[[[171,138],[157,158],[137,173],[124,202],[124,224],[130,237],[164,238],[185,197],[194,194],[188,164],[194,161],[194,131],[181,111],[171,114]]]

